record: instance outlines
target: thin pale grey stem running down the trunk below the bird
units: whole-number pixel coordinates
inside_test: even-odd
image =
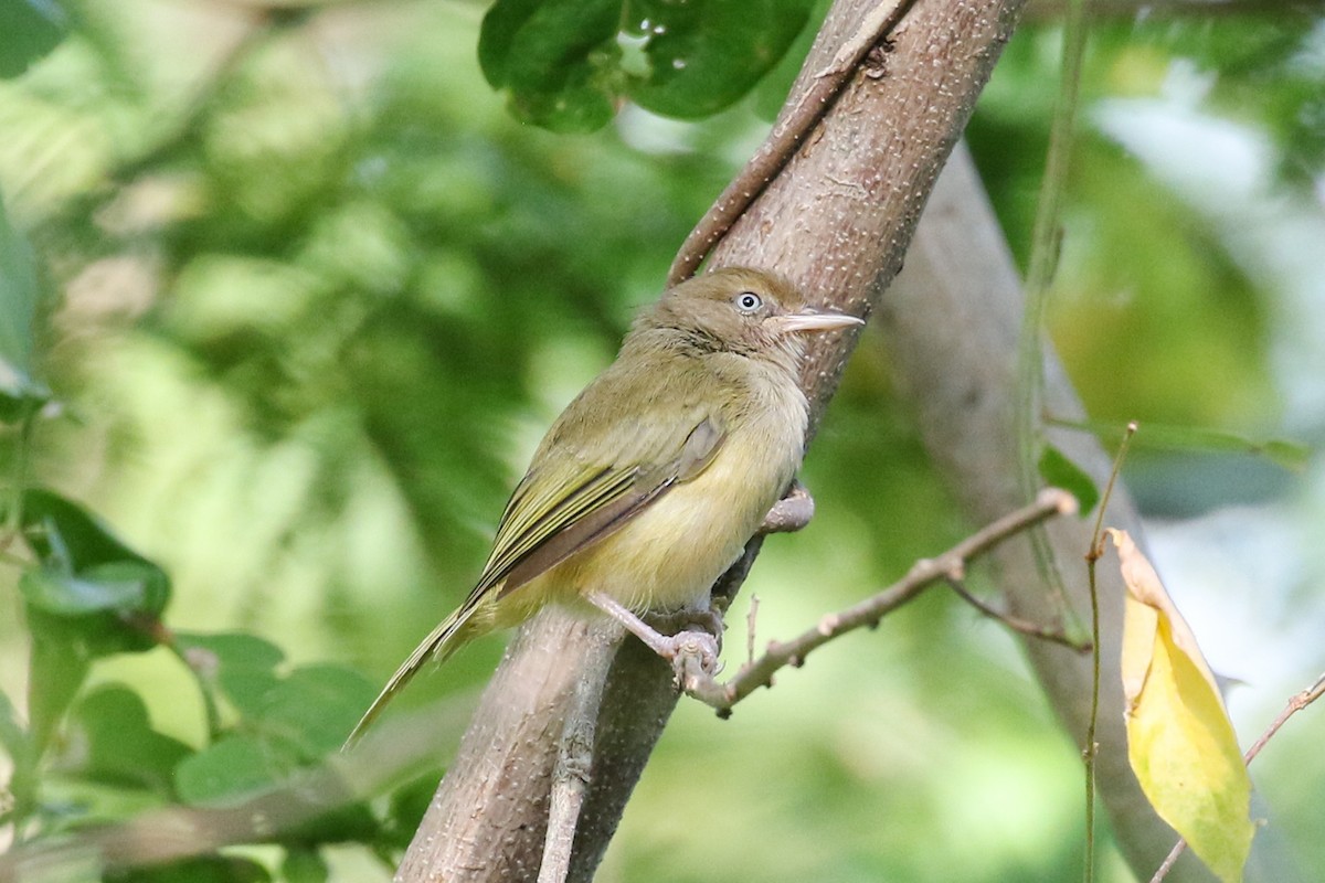
[[[580,670],[566,706],[556,765],[553,768],[547,834],[543,838],[538,883],[564,883],[570,874],[575,829],[594,767],[594,735],[610,667],[607,654],[616,649],[616,643],[606,634],[594,635],[594,653]]]

